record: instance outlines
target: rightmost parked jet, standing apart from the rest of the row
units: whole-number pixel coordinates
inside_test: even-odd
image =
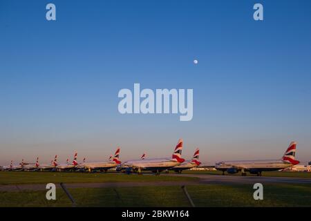
[[[225,171],[227,171],[227,173],[238,173],[238,171],[241,171],[242,175],[246,175],[246,172],[261,175],[262,171],[278,171],[299,164],[299,161],[295,160],[295,153],[296,142],[291,142],[281,160],[219,162],[216,164],[215,168],[218,171],[223,171],[223,175]]]

